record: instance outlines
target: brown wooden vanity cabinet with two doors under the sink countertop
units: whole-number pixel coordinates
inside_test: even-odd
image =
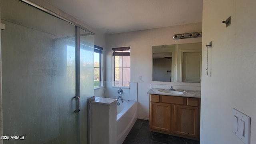
[[[150,94],[150,130],[199,140],[200,98]]]

